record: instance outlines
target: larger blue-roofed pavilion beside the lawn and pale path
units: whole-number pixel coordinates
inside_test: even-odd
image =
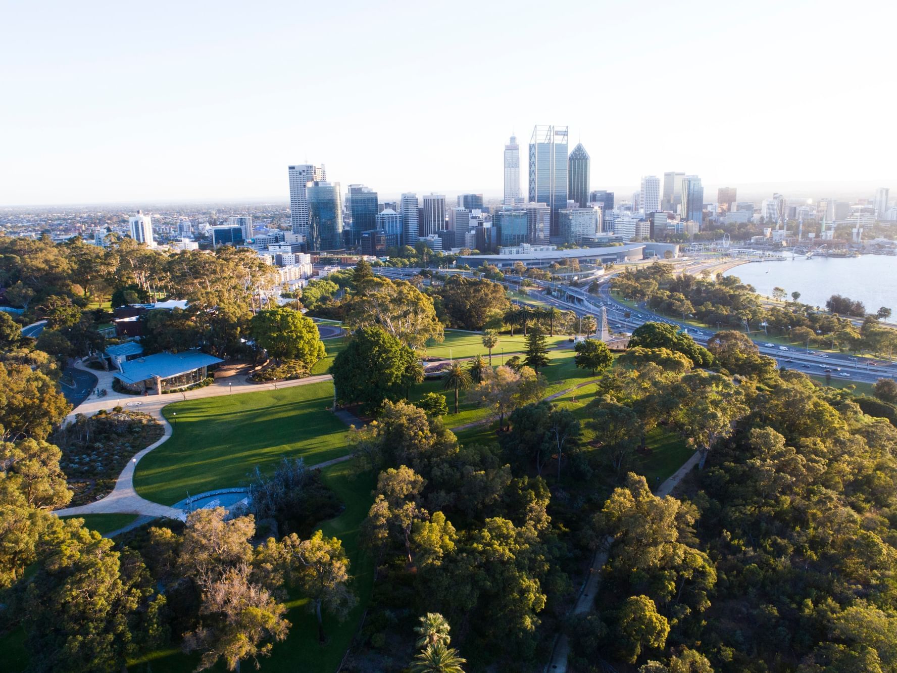
[[[121,363],[115,378],[126,389],[161,395],[164,390],[186,388],[205,380],[209,367],[223,362],[220,357],[196,350],[157,353]]]

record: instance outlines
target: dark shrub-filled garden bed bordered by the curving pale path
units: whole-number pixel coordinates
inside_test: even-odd
[[[62,450],[60,467],[74,491],[72,505],[108,495],[127,461],[152,442],[163,428],[152,415],[134,411],[100,412],[60,429],[53,442]]]

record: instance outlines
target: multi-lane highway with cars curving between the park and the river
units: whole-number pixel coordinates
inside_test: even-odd
[[[379,267],[378,273],[396,278],[407,278],[415,275],[420,269]],[[440,273],[447,273],[440,269]],[[448,273],[465,273],[449,269]],[[562,310],[572,310],[578,316],[600,317],[601,310],[607,310],[607,322],[612,331],[631,332],[631,330],[646,322],[663,322],[687,331],[691,337],[701,345],[707,345],[714,330],[694,328],[694,326],[674,318],[658,315],[647,308],[639,306],[632,309],[620,302],[616,302],[610,293],[607,278],[599,284],[598,294],[589,293],[587,290],[570,287],[570,285],[549,283],[544,281],[531,281],[535,287],[520,288],[522,279],[517,276],[505,275],[502,284],[511,289],[520,289],[528,293],[533,299],[558,307]],[[780,346],[772,344],[760,337],[753,338],[753,342],[760,352],[769,355],[779,363],[779,367],[803,371],[817,377],[829,375],[832,380],[845,380],[874,383],[882,378],[897,380],[897,363],[888,363],[867,357],[854,357],[843,353],[822,353],[806,348],[798,348],[792,345]],[[828,370],[828,371],[826,371]]]

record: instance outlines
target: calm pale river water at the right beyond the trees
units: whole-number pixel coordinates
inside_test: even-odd
[[[863,302],[869,312],[886,306],[897,317],[897,257],[788,258],[743,264],[726,275],[736,275],[761,294],[771,295],[778,286],[790,298],[797,290],[798,301],[823,308],[832,294],[842,294]]]

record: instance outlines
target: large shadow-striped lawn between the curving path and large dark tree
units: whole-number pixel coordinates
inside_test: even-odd
[[[137,465],[137,493],[173,504],[190,494],[236,486],[281,457],[309,465],[344,456],[346,426],[330,414],[329,381],[244,395],[200,398],[164,408],[174,434]]]

